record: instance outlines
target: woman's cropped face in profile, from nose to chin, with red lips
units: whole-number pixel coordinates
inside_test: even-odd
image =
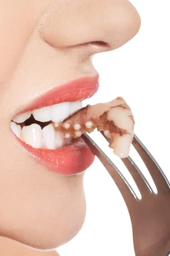
[[[0,0],[1,236],[50,249],[79,232],[86,207],[83,173],[75,174],[94,156],[79,139],[57,149],[64,144],[53,125],[42,132],[24,122],[31,113],[57,122],[68,116],[68,107],[79,108],[68,102],[97,90],[91,56],[122,46],[139,27],[127,0]],[[67,103],[56,105],[61,102]],[[32,112],[44,106],[51,107]],[[12,119],[24,131],[11,126]]]

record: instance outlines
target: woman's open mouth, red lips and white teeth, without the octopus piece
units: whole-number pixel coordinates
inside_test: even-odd
[[[99,88],[99,76],[71,81],[35,99],[11,120],[11,129],[24,150],[39,163],[65,175],[82,173],[94,160],[86,143],[77,136],[56,131],[59,122],[82,108]]]

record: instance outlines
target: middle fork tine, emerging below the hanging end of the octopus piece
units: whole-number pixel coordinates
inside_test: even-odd
[[[143,173],[141,172],[139,167],[136,165],[136,163],[132,160],[132,158],[131,157],[122,158],[122,162],[125,164],[127,170],[132,175],[133,180],[138,186],[138,189],[141,195],[148,196],[148,192],[150,192],[150,194],[155,195],[147,179],[144,177]]]

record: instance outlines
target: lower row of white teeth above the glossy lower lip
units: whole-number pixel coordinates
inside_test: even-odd
[[[70,144],[73,140],[73,138],[64,138],[60,131],[55,131],[52,123],[43,128],[36,123],[23,126],[23,128],[21,126],[11,122],[11,130],[14,134],[34,148],[57,149]]]

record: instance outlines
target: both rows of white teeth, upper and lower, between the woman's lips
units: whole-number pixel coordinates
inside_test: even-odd
[[[69,143],[70,140],[65,139],[61,132],[55,131],[54,126],[57,125],[57,122],[62,122],[80,108],[82,108],[82,102],[63,102],[29,111],[16,116],[13,119],[14,122],[11,122],[11,129],[18,138],[34,148],[56,149],[62,147],[65,143]],[[20,125],[15,123],[25,122],[31,114],[33,114],[34,119],[37,121],[48,122],[51,120],[54,122],[54,125],[49,124],[41,129],[40,125],[34,123],[23,126],[21,129]]]

